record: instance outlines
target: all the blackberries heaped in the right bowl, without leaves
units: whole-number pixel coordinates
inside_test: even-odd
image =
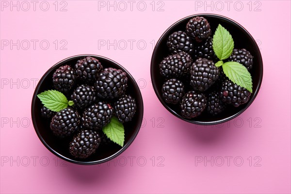
[[[181,115],[194,118],[206,110],[217,115],[227,104],[235,107],[246,103],[251,93],[230,81],[213,50],[210,23],[196,16],[187,23],[186,31],[172,33],[167,40],[171,55],[160,63],[165,78],[162,97],[166,103],[178,104]],[[252,69],[253,57],[246,49],[233,49],[229,61]],[[189,89],[190,88],[190,89]]]

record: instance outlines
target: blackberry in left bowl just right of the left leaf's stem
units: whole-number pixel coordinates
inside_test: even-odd
[[[97,97],[94,87],[82,84],[74,90],[71,99],[77,108],[84,109],[89,105],[94,104]]]

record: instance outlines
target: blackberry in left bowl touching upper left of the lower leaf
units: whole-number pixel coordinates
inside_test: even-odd
[[[110,122],[112,116],[110,104],[99,101],[84,110],[81,121],[85,129],[101,129]]]

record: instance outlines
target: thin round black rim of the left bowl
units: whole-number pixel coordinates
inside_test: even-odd
[[[35,120],[35,114],[34,114],[34,109],[35,109],[35,101],[37,99],[37,94],[39,93],[39,88],[40,88],[40,85],[43,84],[43,82],[45,81],[45,78],[44,76],[49,74],[49,72],[51,72],[52,70],[54,70],[56,68],[56,66],[60,65],[61,63],[65,62],[65,61],[69,61],[69,60],[72,60],[72,59],[76,59],[76,58],[82,58],[82,57],[86,57],[86,56],[91,56],[91,57],[95,57],[97,59],[102,59],[102,60],[107,60],[107,61],[110,61],[112,63],[114,63],[115,65],[117,66],[120,66],[121,68],[123,68],[123,70],[125,70],[127,76],[132,80],[132,84],[133,84],[133,87],[134,88],[137,88],[137,96],[140,97],[140,101],[141,101],[141,107],[139,108],[141,110],[141,116],[140,118],[137,120],[138,122],[138,125],[137,125],[137,129],[134,131],[133,133],[133,136],[129,139],[129,141],[119,150],[117,151],[116,153],[114,153],[113,155],[107,157],[107,158],[104,158],[102,160],[98,160],[98,161],[91,161],[91,162],[82,162],[82,161],[77,161],[77,160],[73,160],[73,159],[70,159],[70,158],[67,158],[65,156],[63,156],[62,154],[59,154],[57,151],[55,151],[54,149],[52,149],[46,142],[45,140],[43,139],[42,135],[40,134],[39,130],[38,130],[38,127],[37,127],[37,124],[36,124],[36,120]],[[142,122],[143,122],[143,116],[144,116],[144,102],[143,102],[143,97],[142,97],[142,94],[141,94],[141,91],[140,91],[140,88],[138,87],[136,81],[134,80],[134,78],[132,77],[132,75],[129,73],[129,71],[124,68],[122,65],[118,64],[117,62],[113,61],[112,59],[109,59],[107,57],[103,57],[101,55],[95,55],[95,54],[81,54],[81,55],[74,55],[74,56],[71,56],[71,57],[67,57],[61,61],[59,61],[58,63],[56,63],[55,65],[51,66],[49,68],[49,70],[47,70],[43,76],[41,77],[40,81],[37,83],[36,87],[35,87],[35,90],[34,90],[34,93],[33,93],[33,96],[32,96],[32,106],[31,106],[31,114],[32,114],[32,124],[33,124],[33,128],[38,136],[38,138],[41,140],[42,144],[44,146],[46,146],[49,151],[51,153],[53,153],[54,155],[56,155],[57,157],[65,160],[65,161],[68,161],[68,162],[72,162],[72,163],[76,163],[76,164],[84,164],[84,165],[92,165],[92,164],[100,164],[100,163],[103,163],[103,162],[107,162],[107,161],[110,161],[112,159],[114,159],[115,157],[117,157],[118,155],[120,155],[122,152],[124,152],[131,144],[132,142],[134,141],[134,139],[136,138],[141,126],[142,126]]]

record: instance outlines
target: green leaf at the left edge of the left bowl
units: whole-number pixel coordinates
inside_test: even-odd
[[[47,90],[38,94],[37,97],[51,111],[59,112],[68,106],[65,95],[56,90]]]

